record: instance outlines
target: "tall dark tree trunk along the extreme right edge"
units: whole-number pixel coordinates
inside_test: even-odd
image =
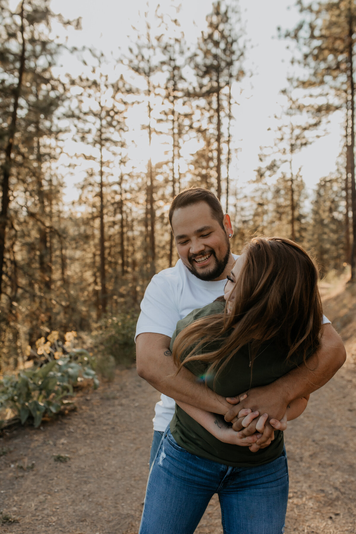
[[[350,10],[349,15],[349,83],[350,83],[350,95],[349,95],[349,105],[350,105],[350,185],[351,185],[351,208],[352,208],[352,248],[351,248],[351,280],[356,280],[356,185],[355,185],[355,159],[354,159],[354,145],[355,145],[355,87],[353,80],[353,18]]]

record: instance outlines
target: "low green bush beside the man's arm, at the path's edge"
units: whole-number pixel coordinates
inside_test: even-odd
[[[135,332],[138,312],[119,313],[101,321],[93,332],[94,341],[98,343],[101,358],[98,365],[108,362],[112,356],[116,364],[129,364],[135,360]]]

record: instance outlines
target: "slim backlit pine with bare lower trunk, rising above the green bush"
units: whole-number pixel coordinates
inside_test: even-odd
[[[72,80],[77,92],[77,106],[73,112],[76,127],[76,140],[92,150],[82,157],[88,162],[86,178],[81,184],[80,202],[88,202],[96,206],[94,219],[99,220],[99,280],[100,292],[98,315],[106,313],[109,294],[107,288],[107,229],[106,206],[110,198],[109,191],[113,184],[120,184],[120,169],[123,155],[122,133],[125,130],[123,95],[128,91],[124,78],[110,81],[105,73],[104,56],[91,51],[92,60],[96,65],[91,76],[79,76]],[[122,185],[122,181],[121,181]],[[122,195],[121,195],[122,200]],[[94,222],[93,222],[94,223]],[[95,224],[94,224],[95,226]],[[96,256],[94,256],[96,257]],[[97,269],[94,261],[94,269]],[[94,280],[96,278],[94,273]],[[95,283],[95,287],[98,284]]]

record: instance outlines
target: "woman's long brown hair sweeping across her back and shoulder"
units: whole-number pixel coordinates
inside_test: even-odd
[[[286,360],[297,353],[305,362],[318,348],[322,307],[311,257],[294,241],[280,237],[253,238],[241,254],[245,261],[233,289],[231,313],[196,320],[179,333],[173,344],[178,371],[200,360],[211,364],[209,374],[217,368],[219,373],[247,343],[253,363],[260,345],[271,339],[287,347]],[[216,342],[219,348],[211,350]]]

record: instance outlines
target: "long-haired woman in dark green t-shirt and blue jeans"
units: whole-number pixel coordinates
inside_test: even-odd
[[[305,362],[321,334],[317,281],[314,263],[293,241],[252,239],[228,277],[225,310],[214,302],[178,322],[171,343],[177,372],[185,365],[232,397]],[[306,403],[294,400],[285,418],[298,417]],[[283,532],[288,467],[280,423],[271,421],[276,431],[265,448],[255,444],[259,433],[242,447],[216,414],[179,404],[149,475],[140,534],[194,532],[214,493],[224,534]],[[263,432],[267,414],[239,413],[243,426],[258,415]]]

